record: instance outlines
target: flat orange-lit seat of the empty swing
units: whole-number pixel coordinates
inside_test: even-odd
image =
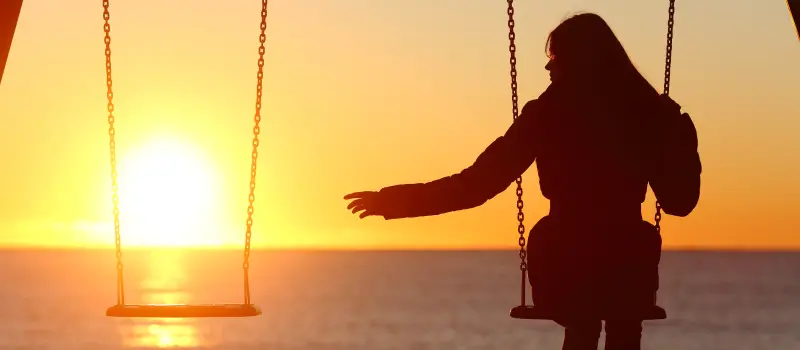
[[[253,304],[149,304],[114,305],[106,310],[110,317],[196,318],[196,317],[252,317],[261,315]]]

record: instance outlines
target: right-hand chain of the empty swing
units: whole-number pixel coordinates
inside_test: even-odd
[[[261,96],[263,92],[264,80],[264,43],[267,41],[267,3],[268,0],[261,0],[261,35],[258,37],[260,43],[258,47],[258,74],[256,83],[256,112],[254,116],[255,125],[253,126],[253,152],[251,154],[252,162],[250,164],[250,194],[248,196],[247,206],[247,230],[244,240],[244,262],[242,269],[244,270],[244,303],[250,304],[250,238],[252,237],[253,229],[253,202],[256,200],[256,167],[258,165],[258,135],[261,133],[259,123],[261,122]]]

